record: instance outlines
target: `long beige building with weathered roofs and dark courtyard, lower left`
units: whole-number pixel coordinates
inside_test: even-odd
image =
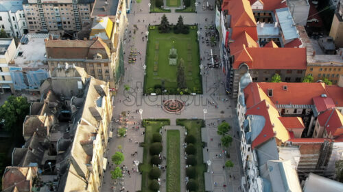
[[[29,189],[101,191],[112,116],[108,84],[72,65],[55,68],[43,83],[42,99],[23,124],[25,145],[12,152],[13,167],[43,170]]]

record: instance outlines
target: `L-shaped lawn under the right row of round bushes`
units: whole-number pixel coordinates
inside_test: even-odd
[[[196,137],[196,181],[198,182],[198,191],[204,192],[204,172],[206,172],[206,165],[202,160],[202,141],[201,141],[201,128],[204,127],[203,120],[176,120],[176,124],[180,126],[185,126],[187,130],[187,135],[193,135]]]

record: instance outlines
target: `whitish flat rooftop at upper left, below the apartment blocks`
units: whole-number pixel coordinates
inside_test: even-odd
[[[47,57],[45,39],[49,34],[29,33],[21,38],[21,43],[14,54],[14,64],[23,68],[41,68],[46,64]],[[47,68],[47,65],[45,65]]]

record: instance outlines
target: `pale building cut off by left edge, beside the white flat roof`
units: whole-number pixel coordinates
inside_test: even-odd
[[[13,39],[0,39],[0,92],[10,90],[14,93],[13,81],[9,64],[16,53],[16,44]]]

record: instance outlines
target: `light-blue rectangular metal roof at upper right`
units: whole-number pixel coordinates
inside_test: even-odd
[[[281,8],[275,10],[275,12],[281,25],[281,30],[283,31],[285,40],[299,38],[298,31],[296,30],[296,25],[294,23],[291,12],[289,12],[289,9]]]

